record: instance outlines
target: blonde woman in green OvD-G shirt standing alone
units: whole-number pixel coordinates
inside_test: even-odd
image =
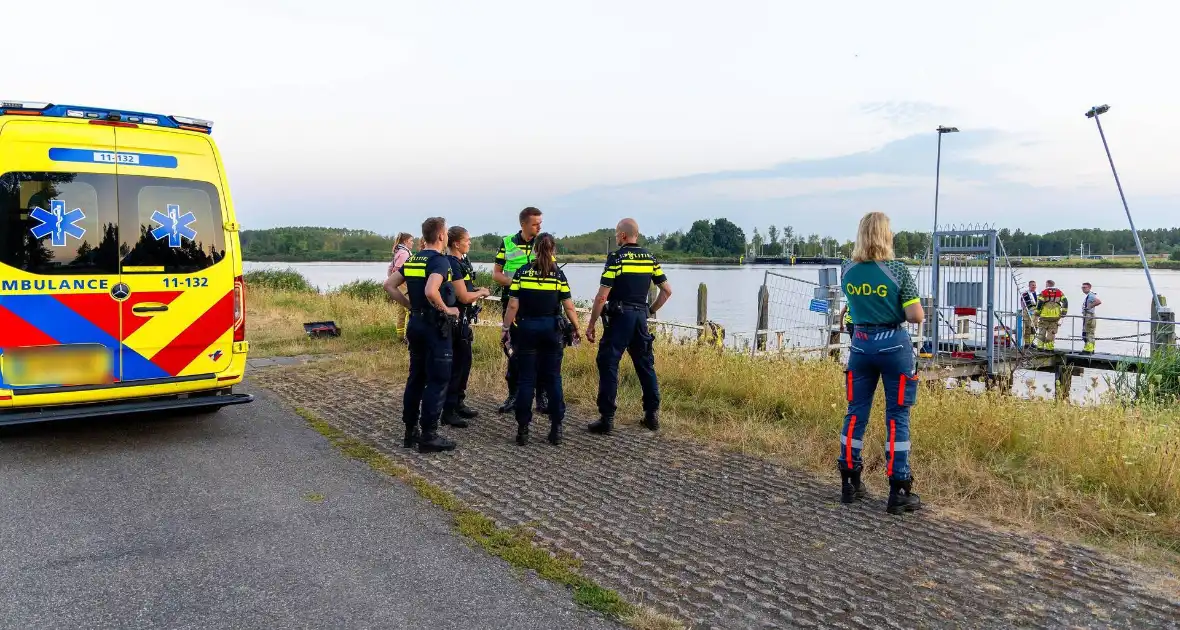
[[[902,322],[918,323],[924,313],[918,288],[905,264],[893,260],[889,217],[868,212],[857,230],[852,261],[841,270],[844,294],[856,326],[848,355],[848,414],[840,432],[838,465],[844,503],[865,496],[860,483],[860,449],[878,379],[885,387],[885,474],[891,514],[920,506],[910,492],[910,407],[918,394],[913,346]]]

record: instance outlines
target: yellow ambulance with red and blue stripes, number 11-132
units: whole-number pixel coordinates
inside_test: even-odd
[[[0,425],[253,400],[211,129],[0,101]]]

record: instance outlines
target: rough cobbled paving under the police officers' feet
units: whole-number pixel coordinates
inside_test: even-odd
[[[491,400],[446,432],[454,453],[419,455],[401,448],[400,391],[317,370],[254,378],[693,628],[1180,628],[1180,593],[1136,585],[1133,567],[929,512],[890,517],[883,479],[844,506],[834,472],[817,480],[637,426],[590,435],[576,413],[560,447],[540,418],[520,448]]]

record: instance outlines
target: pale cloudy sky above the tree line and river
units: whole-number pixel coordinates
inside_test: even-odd
[[[1180,225],[1180,5],[59,0],[6,99],[214,120],[244,228]],[[51,26],[52,27],[48,27]],[[9,55],[13,54],[9,52]],[[18,53],[19,54],[19,53]],[[12,57],[9,57],[12,60]]]

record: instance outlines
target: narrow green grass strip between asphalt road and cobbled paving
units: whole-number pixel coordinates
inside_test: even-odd
[[[500,527],[496,521],[463,504],[454,494],[431,484],[409,468],[394,462],[376,448],[346,435],[342,431],[304,408],[296,413],[328,439],[345,455],[363,461],[373,470],[400,479],[413,487],[419,496],[448,512],[460,534],[471,539],[484,551],[502,558],[512,566],[536,571],[538,576],[562,584],[572,591],[573,601],[590,610],[622,621],[636,628],[655,628],[651,619],[657,616],[644,611],[617,592],[599,586],[578,572],[581,563],[568,556],[551,553],[536,544],[533,534],[520,527]],[[322,499],[321,499],[322,500]],[[664,625],[674,628],[675,625]]]

